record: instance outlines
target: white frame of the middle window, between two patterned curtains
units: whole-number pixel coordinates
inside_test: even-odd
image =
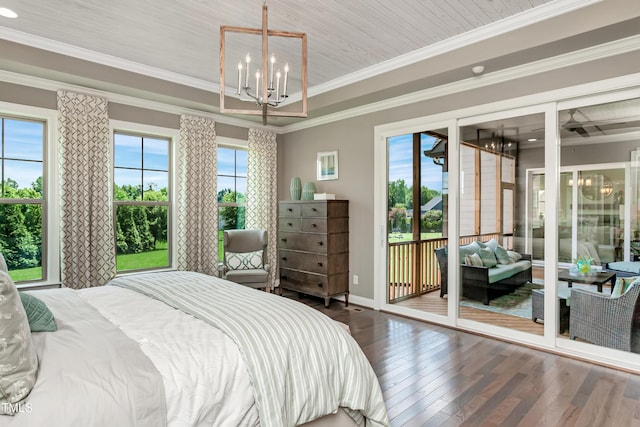
[[[111,197],[112,197],[112,206],[113,206],[113,239],[114,245],[117,242],[117,209],[118,206],[166,206],[167,207],[167,265],[159,266],[159,267],[150,267],[150,268],[137,268],[131,270],[118,270],[117,261],[116,261],[116,276],[138,273],[142,271],[168,271],[175,269],[175,260],[176,260],[176,226],[175,220],[176,218],[176,201],[175,201],[175,174],[173,171],[176,167],[176,154],[177,143],[179,138],[179,131],[177,129],[164,128],[160,126],[153,125],[145,125],[141,123],[134,122],[126,122],[121,120],[110,120],[109,121],[109,134],[110,134],[110,149],[111,149]],[[165,139],[168,142],[168,163],[167,163],[167,200],[166,201],[147,201],[144,199],[141,200],[116,200],[115,199],[115,136],[116,134],[141,137],[141,138],[150,138],[150,139]],[[141,170],[155,170],[155,169],[144,169],[144,163],[141,164],[141,168],[127,168],[127,169],[135,169]],[[144,185],[144,182],[142,182]],[[144,188],[143,193],[144,195]],[[117,256],[117,247],[115,248],[114,258]]]

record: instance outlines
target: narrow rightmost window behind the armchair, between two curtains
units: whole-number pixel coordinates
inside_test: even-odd
[[[218,147],[218,259],[224,230],[243,229],[247,195],[247,150]]]

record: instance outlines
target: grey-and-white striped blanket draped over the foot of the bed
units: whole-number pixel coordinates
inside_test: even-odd
[[[324,314],[274,294],[193,272],[147,273],[110,285],[140,292],[226,333],[245,359],[264,427],[347,409],[388,426],[378,379],[353,338]]]

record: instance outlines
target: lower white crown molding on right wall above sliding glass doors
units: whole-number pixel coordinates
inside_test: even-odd
[[[440,96],[451,95],[454,93],[465,92],[472,89],[504,83],[506,81],[553,71],[597,59],[629,53],[636,50],[640,50],[640,35],[631,36],[625,39],[604,43],[602,45],[542,59],[505,70],[495,71],[493,73],[471,77],[434,88],[424,89],[422,91],[397,96],[395,98],[373,102],[371,104],[354,107],[348,110],[339,111],[337,113],[327,114],[315,119],[307,119],[300,123],[283,126],[282,133],[295,132],[315,126],[337,122],[340,120],[362,116],[365,114],[376,113],[378,111],[387,110],[390,108],[402,107],[409,104],[414,104],[416,102],[434,99]]]

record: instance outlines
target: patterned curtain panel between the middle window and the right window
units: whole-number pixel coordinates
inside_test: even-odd
[[[212,119],[180,117],[178,143],[178,270],[218,272],[216,130]]]

